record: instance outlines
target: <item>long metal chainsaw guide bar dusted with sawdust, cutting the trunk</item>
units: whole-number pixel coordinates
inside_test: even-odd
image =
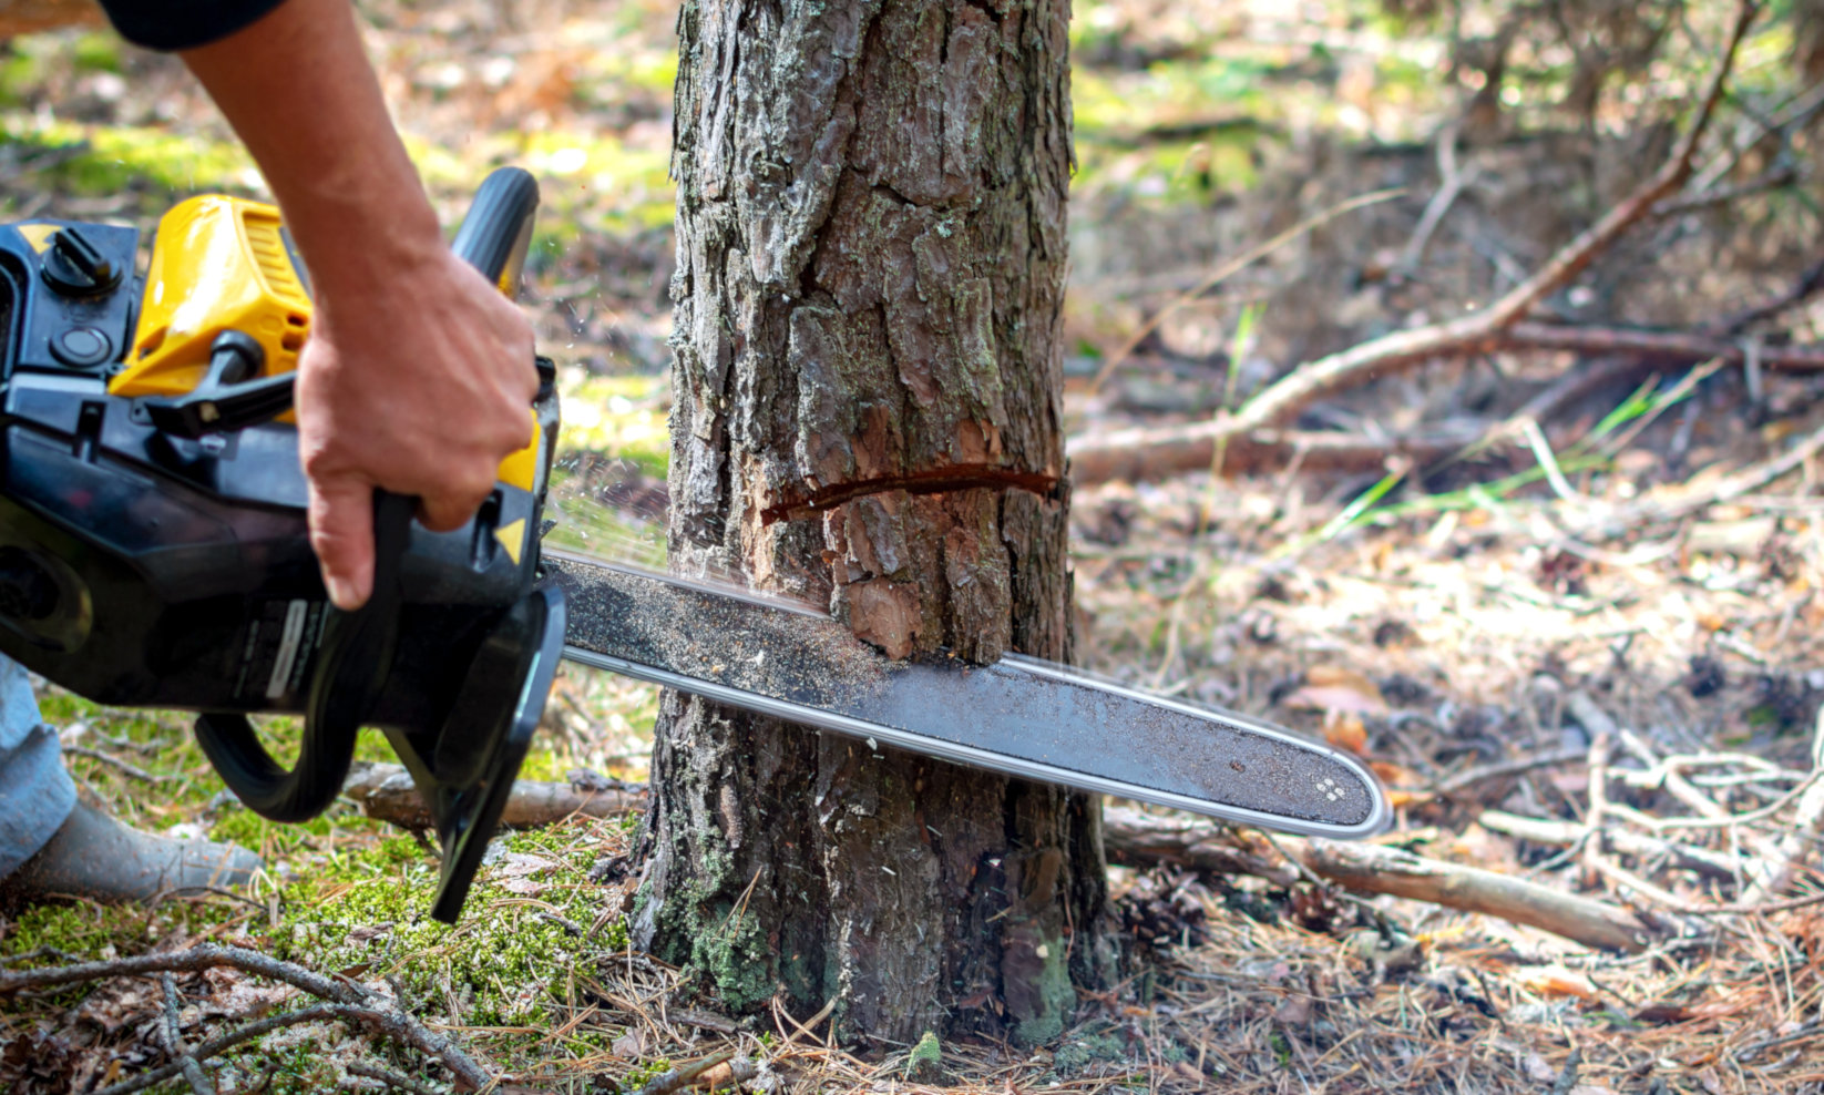
[[[1386,829],[1359,761],[1288,730],[1009,655],[894,661],[797,604],[544,549],[564,657],[761,715],[1076,790],[1328,838]]]

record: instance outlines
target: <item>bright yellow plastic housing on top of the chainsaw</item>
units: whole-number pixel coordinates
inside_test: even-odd
[[[210,345],[224,330],[259,341],[261,376],[292,372],[310,316],[310,294],[281,232],[279,210],[243,197],[192,197],[159,221],[133,345],[108,392],[195,391],[208,372]],[[533,489],[538,471],[538,416],[527,414],[533,443],[502,460],[498,471],[500,482],[522,491]],[[295,418],[288,411],[279,422]]]

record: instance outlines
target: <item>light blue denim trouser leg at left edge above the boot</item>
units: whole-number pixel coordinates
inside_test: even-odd
[[[38,719],[24,666],[0,655],[0,878],[36,854],[75,807],[57,732]]]

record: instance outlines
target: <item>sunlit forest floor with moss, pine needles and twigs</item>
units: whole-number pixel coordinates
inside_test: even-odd
[[[1492,35],[1466,7],[1459,38]],[[1791,24],[1736,51],[1680,195],[1530,310],[1578,328],[1576,347],[1490,341],[1381,369],[1299,403],[1279,440],[1184,456],[1299,363],[1474,314],[1623,203],[1673,155],[1722,53],[1727,9],[1702,7],[1589,111],[1565,106],[1576,51],[1530,24],[1494,110],[1448,77],[1466,53],[1441,26],[1370,4],[1100,0],[1073,24],[1078,661],[1359,752],[1399,801],[1377,847],[1583,896],[1632,918],[1642,949],[1348,892],[1295,867],[1291,841],[1211,829],[1260,876],[1118,856],[1144,962],[1085,993],[1060,1040],[843,1048],[814,1017],[719,1015],[688,973],[629,949],[633,816],[503,836],[445,929],[423,920],[436,863],[410,834],[352,803],[270,825],[223,790],[181,715],[46,688],[84,794],[135,825],[246,843],[266,872],[239,898],[0,914],[0,964],[246,947],[414,1015],[500,1069],[500,1090],[673,1090],[666,1069],[728,1053],[781,1091],[1824,1091],[1824,880],[1808,863],[1824,819],[1824,380],[1802,352],[1780,365],[1824,321],[1824,97],[1789,60]],[[447,215],[496,162],[545,179],[531,308],[562,365],[564,443],[626,460],[622,496],[646,502],[565,516],[578,544],[653,558],[675,7],[361,9]],[[4,47],[0,128],[5,221],[151,228],[195,190],[259,186],[181,69],[93,31]],[[1363,195],[1379,197],[1341,210]],[[1600,349],[1634,330],[1727,354]],[[1082,471],[1111,436],[1133,458]],[[1412,443],[1439,436],[1452,443]],[[525,777],[640,781],[653,714],[649,688],[567,668]],[[390,759],[378,739],[361,757]],[[235,965],[161,989],[119,976],[5,998],[0,1086],[128,1084],[177,1057],[168,1022],[195,1048],[310,1004]],[[460,1068],[405,1042],[325,1020],[208,1068],[223,1091],[451,1090]],[[190,1086],[173,1069],[151,1090]]]

